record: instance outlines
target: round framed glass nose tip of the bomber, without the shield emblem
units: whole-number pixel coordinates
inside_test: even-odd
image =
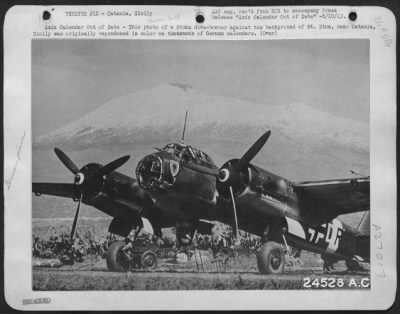
[[[163,159],[157,154],[151,154],[139,161],[136,167],[136,178],[144,189],[155,189],[163,182]]]

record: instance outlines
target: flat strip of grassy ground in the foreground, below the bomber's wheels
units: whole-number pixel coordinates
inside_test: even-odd
[[[368,273],[322,271],[292,272],[280,275],[258,273],[197,273],[197,272],[128,272],[85,270],[49,270],[33,272],[34,290],[272,290],[306,289],[305,279],[343,279],[343,286],[334,288],[357,289]],[[351,281],[356,286],[351,286]],[[315,289],[318,287],[311,287]]]

